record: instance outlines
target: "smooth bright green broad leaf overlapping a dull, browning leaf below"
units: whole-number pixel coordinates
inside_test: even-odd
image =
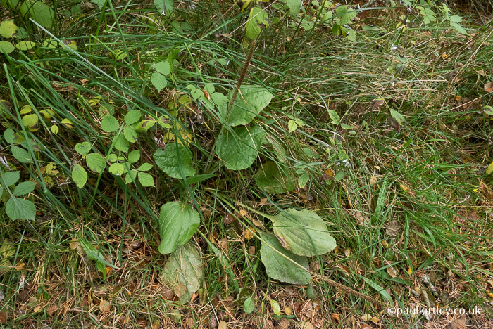
[[[192,238],[200,224],[199,213],[185,202],[168,202],[159,213],[159,252],[169,254]]]

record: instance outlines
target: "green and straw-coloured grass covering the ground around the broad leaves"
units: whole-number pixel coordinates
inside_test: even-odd
[[[373,9],[352,25],[358,30],[356,42],[334,37],[327,27],[288,26],[291,18],[266,27],[244,84],[265,86],[274,94],[256,122],[277,146],[264,143],[250,168],[231,171],[214,149],[225,129],[217,110],[180,97],[190,96],[190,84],[199,89],[213,84],[223,94],[234,88],[249,51],[242,44],[246,16],[223,2],[195,5],[194,10],[185,6],[159,16],[154,24],[152,4],[108,2],[104,12],[96,7],[61,19],[53,31],[58,39],[75,41],[80,56],[41,44],[0,55],[5,63],[0,98],[11,103],[13,114],[0,121],[32,139],[27,150],[35,161],[18,162],[3,136],[0,153],[11,169],[20,170],[20,181],[38,183],[28,197],[36,205],[35,221],[9,219],[3,211],[6,194],[0,205],[0,242],[11,249],[2,257],[16,266],[0,274],[2,328],[120,328],[124,323],[132,328],[217,328],[220,321],[228,328],[273,328],[283,319],[290,325],[309,320],[315,328],[352,328],[371,323],[362,320],[364,314],[379,318],[378,325],[385,328],[438,327],[451,321],[392,318],[379,305],[323,281],[312,280],[317,297],[308,298],[306,286],[268,278],[259,255],[261,241],[245,234],[260,224],[272,231],[272,224],[250,210],[241,218],[240,210],[248,207],[270,215],[286,207],[311,209],[323,217],[337,249],[309,259],[312,271],[383,300],[375,290],[380,286],[401,307],[424,305],[413,290],[428,289],[422,280],[428,275],[440,305],[482,307],[482,316],[466,320],[487,325],[487,294],[493,292],[493,194],[491,176],[478,170],[491,162],[491,120],[481,106],[492,105],[492,93],[483,86],[492,81],[493,47],[491,25],[478,23],[484,17],[457,13],[470,32],[464,36],[441,22],[441,16],[425,25],[413,12],[403,32],[396,26],[405,9]],[[2,20],[6,18],[25,26],[33,41],[48,38],[17,10],[6,11]],[[363,25],[380,30],[361,30]],[[399,45],[397,51],[390,50],[393,44]],[[115,56],[118,51],[121,58]],[[152,65],[173,52],[178,63],[173,79],[158,93],[151,84]],[[458,79],[452,80],[451,72],[458,72]],[[94,105],[90,100],[96,97],[101,101]],[[385,98],[385,103],[372,106],[375,98]],[[54,110],[54,122],[39,120],[39,129],[28,131],[20,115],[24,105],[37,114]],[[106,170],[89,174],[85,188],[77,188],[70,178],[73,164],[85,165],[74,150],[77,143],[87,141],[92,152],[103,155],[116,152],[110,149],[111,135],[101,131],[101,111],[111,108],[120,121],[129,110],[148,117],[168,115],[180,131],[193,136],[189,148],[197,174],[215,176],[180,183],[154,166],[150,173],[156,187],[144,188],[125,184]],[[400,126],[392,124],[390,109],[404,116]],[[205,124],[195,122],[200,110]],[[328,110],[353,127],[332,124]],[[289,133],[292,118],[306,124]],[[73,127],[65,127],[63,119]],[[49,131],[52,124],[58,125],[58,134]],[[153,135],[139,134],[139,145],[132,144],[141,150],[142,162],[154,164],[158,146]],[[185,143],[183,136],[175,139]],[[34,152],[35,143],[44,149]],[[254,174],[268,161],[305,168],[308,183],[290,193],[266,193],[256,186]],[[56,164],[58,174],[40,176],[49,163]],[[168,256],[158,252],[158,212],[176,200],[189,201],[201,216],[191,241],[201,250],[204,278],[185,306],[160,279]],[[228,214],[239,219],[225,224]],[[106,278],[96,262],[70,245],[77,233],[115,266]],[[249,296],[256,302],[253,314],[243,311]],[[273,313],[271,299],[280,304],[281,316]],[[111,302],[109,311],[100,309],[104,301]],[[289,307],[294,315],[288,315]]]

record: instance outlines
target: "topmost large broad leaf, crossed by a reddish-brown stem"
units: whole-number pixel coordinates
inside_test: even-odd
[[[219,115],[231,127],[249,124],[263,108],[269,105],[273,94],[261,86],[241,86],[231,112],[227,115],[227,106],[234,91],[227,94],[227,103],[218,107]]]

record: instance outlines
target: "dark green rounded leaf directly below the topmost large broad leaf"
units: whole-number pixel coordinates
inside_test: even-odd
[[[246,169],[254,163],[264,136],[266,132],[258,126],[224,131],[216,141],[216,153],[228,169]]]

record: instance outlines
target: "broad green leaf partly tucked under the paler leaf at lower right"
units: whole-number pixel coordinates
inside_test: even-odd
[[[262,247],[260,257],[263,265],[266,266],[266,272],[270,278],[293,285],[306,285],[310,283],[310,273],[292,262],[294,261],[305,269],[308,269],[308,260],[306,257],[298,256],[289,250],[285,250],[279,243],[279,240],[271,233],[262,234],[261,238]]]

